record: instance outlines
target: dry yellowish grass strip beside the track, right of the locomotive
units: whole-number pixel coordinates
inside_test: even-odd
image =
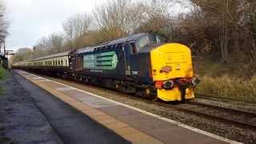
[[[218,97],[242,102],[256,102],[256,76],[244,80],[232,78],[229,75],[220,77],[203,76],[196,89],[196,94],[207,97]]]

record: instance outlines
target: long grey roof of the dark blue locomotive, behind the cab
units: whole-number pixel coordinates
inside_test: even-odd
[[[108,41],[108,42],[104,42],[104,43],[102,43],[100,45],[97,45],[97,46],[87,46],[85,48],[78,49],[77,53],[82,54],[82,53],[86,53],[86,52],[89,52],[89,51],[93,51],[94,48],[97,48],[97,47],[111,46],[111,45],[118,44],[118,43],[136,41],[138,38],[142,37],[143,35],[146,35],[146,33],[134,34],[134,35],[130,35],[130,36],[125,37],[125,38],[114,39],[114,40],[111,40],[111,41]]]

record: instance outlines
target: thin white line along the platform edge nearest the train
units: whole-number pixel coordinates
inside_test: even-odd
[[[30,74],[30,73],[29,73],[29,74]],[[33,75],[34,75],[34,74],[33,74]],[[34,76],[37,76],[37,75],[34,75]],[[42,78],[42,77],[41,77],[41,78]],[[50,82],[55,82],[55,81],[53,81],[53,80],[51,80],[51,79],[48,79],[48,78],[44,78],[44,79],[50,80]],[[58,83],[59,85],[62,85],[62,86],[67,86],[67,85],[65,85],[65,84],[63,84],[63,83],[60,83],[60,82],[55,82],[55,83]],[[85,94],[93,95],[94,97],[97,97],[97,98],[102,98],[102,99],[104,99],[104,100],[106,100],[106,101],[109,101],[109,102],[114,102],[114,103],[116,103],[116,104],[118,104],[118,105],[125,106],[125,107],[127,107],[127,108],[132,109],[132,110],[137,110],[137,111],[139,111],[139,112],[141,112],[141,113],[143,113],[143,114],[148,114],[148,115],[150,115],[150,116],[152,116],[152,117],[154,117],[154,118],[158,118],[158,119],[161,119],[161,120],[163,120],[163,121],[173,123],[173,124],[175,124],[175,125],[184,127],[184,128],[186,128],[186,129],[188,129],[188,130],[192,130],[192,131],[197,132],[197,133],[199,133],[199,134],[205,134],[205,135],[207,135],[207,136],[209,136],[209,137],[211,137],[211,138],[216,138],[216,139],[222,140],[222,141],[224,141],[224,142],[229,142],[229,143],[232,143],[232,144],[242,144],[242,142],[236,142],[236,141],[230,140],[230,139],[228,139],[228,138],[223,138],[223,137],[218,136],[218,135],[216,135],[216,134],[211,134],[211,133],[206,132],[206,131],[204,131],[204,130],[199,130],[199,129],[194,128],[194,127],[192,127],[192,126],[188,126],[188,125],[186,125],[186,124],[184,124],[184,123],[176,122],[176,121],[174,121],[174,120],[172,120],[172,119],[170,119],[170,118],[164,118],[164,117],[162,117],[162,116],[160,116],[160,115],[152,114],[152,113],[147,112],[147,111],[145,111],[145,110],[138,109],[138,108],[136,108],[136,107],[134,107],[134,106],[129,106],[129,105],[123,104],[123,103],[121,103],[121,102],[115,102],[114,100],[111,100],[111,99],[109,99],[109,98],[104,98],[104,97],[99,96],[99,95],[97,95],[97,94],[92,94],[92,93],[87,92],[87,91],[84,91],[84,90],[79,90],[79,89],[77,89],[77,88],[75,88],[75,87],[73,87],[73,86],[67,86],[67,87],[70,87],[71,89],[74,89],[74,90],[81,91],[82,93],[85,93]]]

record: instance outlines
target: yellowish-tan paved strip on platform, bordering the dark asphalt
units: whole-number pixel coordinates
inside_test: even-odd
[[[82,114],[86,114],[90,118],[94,119],[94,121],[102,124],[102,126],[106,126],[108,129],[113,130],[114,133],[122,136],[127,141],[132,143],[147,143],[147,144],[162,144],[163,142],[159,141],[156,138],[151,137],[148,134],[143,133],[141,130],[137,130],[132,126],[129,126],[125,122],[121,122],[118,119],[102,112],[101,110],[97,110],[91,106],[86,105],[85,103],[79,102],[74,98],[70,98],[70,96],[63,94],[62,92],[55,90],[54,88],[47,86],[43,81],[37,78],[30,78],[30,75],[22,72],[20,73],[22,77],[26,78],[30,82],[35,85],[41,87],[43,90],[48,91],[50,94],[54,95],[54,97],[66,102],[70,106],[74,107],[76,110],[82,112]],[[29,73],[28,73],[29,74]]]

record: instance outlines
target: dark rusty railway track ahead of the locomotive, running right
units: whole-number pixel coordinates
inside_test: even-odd
[[[221,106],[208,105],[201,102],[186,102],[177,105],[162,104],[174,110],[193,114],[200,118],[208,118],[214,121],[223,122],[233,126],[239,126],[243,129],[256,130],[256,114],[243,110],[234,110]]]

